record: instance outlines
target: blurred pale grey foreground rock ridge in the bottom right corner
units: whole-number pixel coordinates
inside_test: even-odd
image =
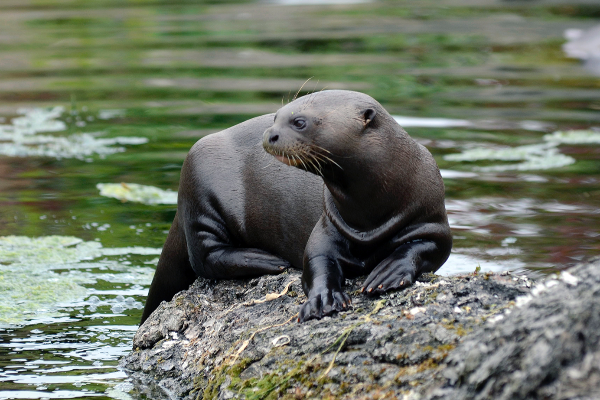
[[[445,367],[428,399],[600,399],[600,262],[536,285]]]

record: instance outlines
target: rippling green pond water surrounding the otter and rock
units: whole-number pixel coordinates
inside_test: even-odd
[[[302,93],[367,92],[436,157],[440,272],[600,253],[600,4],[298,3],[0,3],[0,399],[137,397],[116,365],[185,154],[311,77]]]

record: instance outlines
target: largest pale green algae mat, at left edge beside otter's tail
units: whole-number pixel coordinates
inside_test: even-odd
[[[149,283],[149,267],[132,267],[100,257],[156,255],[160,249],[108,248],[71,236],[0,237],[0,326],[66,316],[65,305],[88,294],[98,280]],[[82,271],[84,269],[85,271]],[[88,271],[98,270],[99,273]]]

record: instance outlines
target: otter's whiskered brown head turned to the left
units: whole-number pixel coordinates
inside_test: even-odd
[[[263,147],[284,164],[325,177],[356,161],[376,123],[378,104],[357,92],[331,90],[301,97],[275,114]],[[367,139],[368,140],[368,139]]]

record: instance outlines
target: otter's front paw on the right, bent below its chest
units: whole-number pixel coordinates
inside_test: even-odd
[[[392,289],[403,289],[412,285],[415,274],[415,268],[412,266],[398,267],[392,263],[382,263],[369,274],[361,291],[374,296]]]

